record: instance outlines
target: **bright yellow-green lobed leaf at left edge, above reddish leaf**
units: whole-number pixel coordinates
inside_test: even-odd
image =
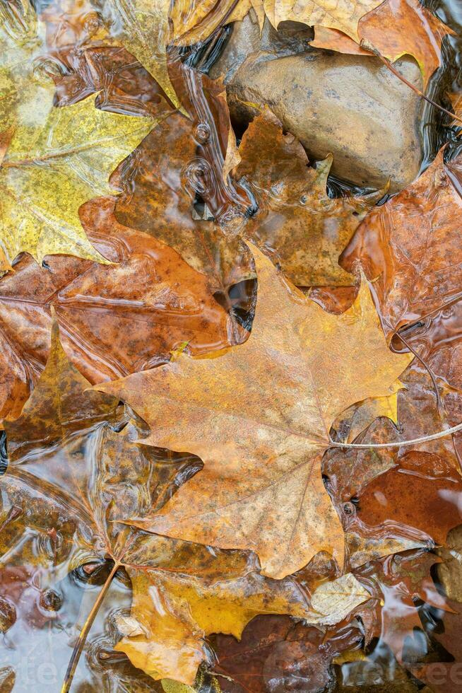
[[[51,103],[53,93],[54,86],[40,93],[40,103]],[[45,114],[33,127],[15,129],[1,164],[1,246],[10,262],[20,252],[38,262],[52,253],[104,262],[83,231],[78,208],[111,192],[109,174],[153,120],[98,110],[92,98],[45,107]]]

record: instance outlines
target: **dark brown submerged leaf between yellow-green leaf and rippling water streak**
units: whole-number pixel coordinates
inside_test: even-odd
[[[204,132],[208,138],[211,129]],[[241,268],[239,237],[215,221],[193,219],[195,194],[215,209],[217,182],[223,181],[223,168],[213,170],[196,149],[196,127],[186,117],[174,113],[160,122],[129,158],[132,168],[124,166],[114,180],[124,190],[116,217],[170,245],[208,276],[212,291],[226,293],[252,273],[248,262]]]

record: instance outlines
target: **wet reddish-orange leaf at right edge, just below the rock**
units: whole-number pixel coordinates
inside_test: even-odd
[[[460,296],[454,219],[462,206],[461,161],[445,164],[440,151],[415,182],[372,210],[340,256],[345,269],[360,262],[369,279],[377,279],[371,290],[389,336]]]

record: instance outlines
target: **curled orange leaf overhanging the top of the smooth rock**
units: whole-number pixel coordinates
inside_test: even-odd
[[[418,0],[386,0],[360,19],[358,42],[339,30],[317,26],[310,44],[353,55],[373,55],[367,50],[370,46],[391,62],[412,55],[422,70],[425,88],[442,65],[444,35],[453,33]]]

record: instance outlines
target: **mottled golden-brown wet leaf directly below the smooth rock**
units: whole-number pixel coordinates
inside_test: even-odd
[[[351,286],[355,277],[338,264],[360,221],[384,196],[330,198],[332,156],[309,168],[304,148],[266,109],[239,145],[236,178],[244,177],[258,211],[244,229],[249,240],[276,251],[283,272],[297,286]]]

